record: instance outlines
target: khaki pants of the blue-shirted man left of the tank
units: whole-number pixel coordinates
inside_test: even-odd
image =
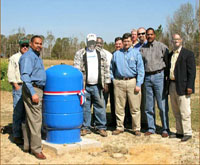
[[[22,95],[26,109],[26,123],[22,125],[24,135],[24,149],[39,153],[42,151],[41,126],[42,126],[42,97],[43,91],[35,88],[39,97],[39,103],[33,103],[25,85],[22,87]]]

